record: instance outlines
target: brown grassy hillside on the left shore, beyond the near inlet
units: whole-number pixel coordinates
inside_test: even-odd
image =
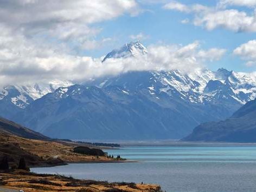
[[[0,158],[8,156],[17,164],[24,157],[30,166],[51,166],[66,162],[119,162],[116,158],[74,153],[74,147],[81,143],[43,141],[22,138],[0,131]],[[84,144],[85,145],[85,144]]]

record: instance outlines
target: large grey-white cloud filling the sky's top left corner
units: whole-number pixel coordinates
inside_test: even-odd
[[[93,24],[138,12],[136,0],[0,1],[0,24],[24,38],[59,39],[83,47],[101,31]]]

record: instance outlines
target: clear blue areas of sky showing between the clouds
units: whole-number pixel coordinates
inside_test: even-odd
[[[166,3],[171,1],[165,1]],[[216,6],[218,1],[178,1],[183,4],[202,4],[206,6]],[[184,14],[176,10],[165,10],[165,3],[140,4],[146,11],[135,17],[123,15],[111,21],[95,24],[103,30],[96,37],[110,37],[113,41],[103,48],[86,51],[86,54],[93,57],[105,55],[113,48],[118,48],[126,42],[132,41],[131,35],[144,34],[146,39],[141,41],[147,46],[150,44],[182,44],[186,45],[194,41],[199,41],[203,49],[224,48],[227,49],[225,56],[220,61],[206,63],[209,69],[227,68],[235,71],[255,71],[256,67],[247,67],[245,61],[233,54],[233,50],[239,45],[255,39],[255,32],[231,31],[223,28],[206,30],[201,26],[194,26],[191,23],[183,24],[183,19],[193,19],[193,14]],[[230,9],[238,9],[248,13],[253,9],[232,6]]]

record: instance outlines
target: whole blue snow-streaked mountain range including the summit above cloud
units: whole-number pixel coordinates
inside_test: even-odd
[[[107,54],[103,64],[147,53],[142,43],[133,42]],[[255,80],[222,68],[189,74],[130,71],[40,89],[10,85],[2,89],[0,116],[53,138],[177,139],[201,123],[225,120],[254,100]]]

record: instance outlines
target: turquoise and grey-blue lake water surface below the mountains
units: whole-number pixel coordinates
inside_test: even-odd
[[[137,162],[31,170],[110,182],[157,183],[175,192],[256,191],[256,145],[138,143],[105,151]]]

